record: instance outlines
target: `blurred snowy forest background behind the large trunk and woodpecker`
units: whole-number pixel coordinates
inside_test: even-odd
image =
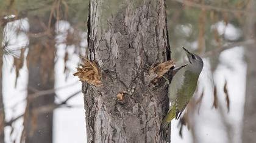
[[[116,5],[106,16],[115,16],[123,1],[108,1]],[[177,67],[187,60],[181,47],[204,60],[187,121],[172,121],[171,142],[255,142],[256,1],[165,2]],[[86,142],[73,74],[88,45],[88,3],[0,0],[0,142]]]

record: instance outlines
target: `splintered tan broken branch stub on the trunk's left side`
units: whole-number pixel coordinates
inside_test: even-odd
[[[80,64],[76,69],[77,72],[74,73],[74,76],[78,76],[79,81],[87,82],[96,87],[101,86],[101,71],[96,62],[84,59],[84,64]]]

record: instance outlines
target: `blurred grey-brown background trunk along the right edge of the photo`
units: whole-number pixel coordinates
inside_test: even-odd
[[[247,21],[244,33],[247,39],[256,39],[256,21],[255,21],[255,7],[256,2],[251,1],[248,4],[247,10],[250,10],[251,15],[247,16]],[[244,127],[243,127],[243,142],[256,142],[256,47],[249,45],[246,48],[247,61],[247,76],[246,76],[246,98],[244,104]]]

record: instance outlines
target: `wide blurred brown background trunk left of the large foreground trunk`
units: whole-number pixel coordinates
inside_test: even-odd
[[[48,27],[49,13],[44,16],[29,16],[29,32],[44,33],[30,36],[27,66],[29,69],[28,98],[24,116],[26,143],[52,142],[53,112],[38,113],[40,107],[54,103],[54,94],[33,98],[32,93],[54,88],[55,19]],[[39,34],[39,35],[40,35]],[[33,35],[33,34],[32,34]]]

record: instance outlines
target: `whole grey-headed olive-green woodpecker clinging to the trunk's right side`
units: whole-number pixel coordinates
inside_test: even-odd
[[[187,107],[188,102],[196,90],[199,75],[204,66],[202,59],[194,53],[185,50],[188,57],[188,64],[183,65],[172,77],[171,84],[168,82],[168,98],[171,103],[169,111],[160,126],[160,133],[166,131],[172,119],[179,119],[182,111]]]

